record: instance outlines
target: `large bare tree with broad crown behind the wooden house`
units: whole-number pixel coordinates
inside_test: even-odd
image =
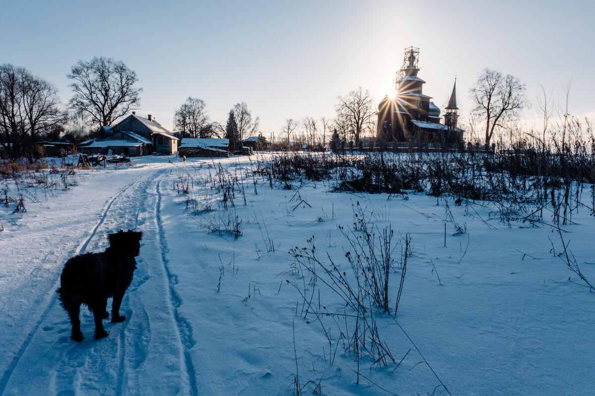
[[[122,61],[95,56],[72,66],[67,77],[73,80],[69,85],[74,91],[70,108],[89,125],[112,125],[139,106],[142,88],[134,87],[136,72]]]

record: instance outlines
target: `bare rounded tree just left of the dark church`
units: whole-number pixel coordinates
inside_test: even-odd
[[[346,96],[337,97],[337,100],[337,126],[343,134],[351,134],[355,142],[359,142],[362,132],[371,130],[374,124],[374,99],[368,90],[358,87]]]

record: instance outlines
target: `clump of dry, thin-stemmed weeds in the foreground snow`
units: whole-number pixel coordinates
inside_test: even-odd
[[[371,232],[374,225],[369,222],[367,212],[359,204],[353,207],[353,217],[352,230],[339,227],[350,246],[345,254],[351,268],[350,273],[341,271],[328,253],[327,259],[321,260],[312,236],[306,241],[308,246],[305,248],[296,246],[290,250],[294,259],[293,270],[300,274],[300,278],[286,282],[300,294],[301,313],[305,319],[309,319],[307,323],[318,322],[321,325],[328,341],[328,362],[332,364],[341,344],[346,352],[356,357],[359,382],[361,356],[368,356],[371,366],[386,366],[389,362],[394,362],[389,346],[378,331],[377,321],[378,315],[390,315],[389,292],[392,289],[389,287],[389,279],[395,271],[391,227],[376,229],[378,235]],[[405,280],[409,235],[403,242],[405,259],[400,272],[395,313]],[[330,290],[337,300],[321,302],[320,288]]]

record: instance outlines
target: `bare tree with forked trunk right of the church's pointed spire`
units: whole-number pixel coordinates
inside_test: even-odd
[[[502,127],[527,104],[525,84],[511,74],[504,77],[488,68],[478,75],[469,96],[474,110],[486,118],[486,144],[490,144],[496,127]]]

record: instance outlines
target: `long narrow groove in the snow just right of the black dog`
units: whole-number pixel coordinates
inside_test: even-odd
[[[163,227],[163,223],[161,220],[161,180],[157,182],[156,185],[156,192],[157,192],[157,203],[155,208],[155,220],[158,229],[158,239],[159,239],[159,246],[161,247],[161,261],[163,264],[163,268],[165,273],[167,274],[167,278],[169,281],[169,291],[170,291],[170,304],[171,304],[171,311],[173,312],[174,319],[176,319],[176,325],[178,327],[178,331],[180,333],[180,343],[183,347],[184,351],[184,363],[186,365],[186,373],[188,375],[188,379],[190,382],[190,392],[192,395],[198,395],[198,388],[196,386],[196,372],[194,369],[194,365],[192,363],[192,357],[190,357],[190,349],[195,345],[195,340],[193,337],[193,329],[192,325],[182,316],[179,312],[180,305],[182,300],[179,294],[176,292],[176,285],[178,283],[178,277],[176,274],[173,274],[170,270],[170,262],[167,258],[167,254],[169,252],[169,248],[167,245],[167,239],[165,237],[165,230]]]

